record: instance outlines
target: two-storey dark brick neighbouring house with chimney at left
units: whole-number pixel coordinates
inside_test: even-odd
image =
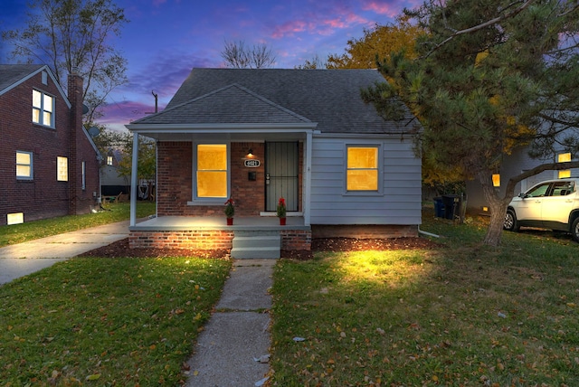
[[[90,212],[100,154],[82,126],[82,78],[68,97],[46,65],[0,65],[0,226]]]

